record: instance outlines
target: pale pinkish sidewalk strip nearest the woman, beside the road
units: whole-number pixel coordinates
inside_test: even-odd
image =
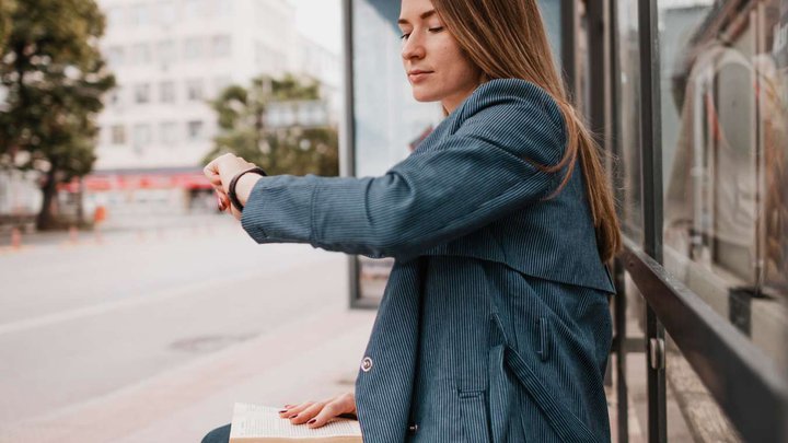
[[[346,300],[346,299],[345,299]],[[235,401],[282,406],[352,390],[374,311],[333,305],[194,364],[22,423],[15,442],[199,442]],[[297,335],[300,340],[290,340]]]

